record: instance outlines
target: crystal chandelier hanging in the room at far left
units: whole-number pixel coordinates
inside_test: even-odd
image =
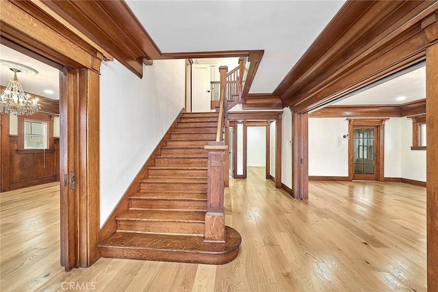
[[[9,80],[5,91],[0,94],[0,112],[17,115],[35,114],[41,108],[38,98],[31,98],[30,94],[23,90],[23,84],[16,77],[16,73],[21,70],[16,68],[10,70],[14,71],[14,79]]]

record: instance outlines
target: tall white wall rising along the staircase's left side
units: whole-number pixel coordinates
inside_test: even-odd
[[[185,60],[154,60],[139,79],[123,65],[101,66],[101,226],[185,103]]]

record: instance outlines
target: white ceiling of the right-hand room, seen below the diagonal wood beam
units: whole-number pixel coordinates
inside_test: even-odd
[[[333,105],[400,105],[422,98],[426,98],[426,66],[359,92]]]

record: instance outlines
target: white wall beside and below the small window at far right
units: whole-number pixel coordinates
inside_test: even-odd
[[[411,150],[412,120],[400,118],[400,124],[401,177],[414,181],[426,181],[426,150]]]

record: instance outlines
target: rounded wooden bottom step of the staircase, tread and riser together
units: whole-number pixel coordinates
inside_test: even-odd
[[[226,226],[225,232],[226,241],[217,243],[205,242],[200,236],[118,231],[99,247],[105,258],[220,265],[236,258],[242,242],[242,237],[233,228]]]

